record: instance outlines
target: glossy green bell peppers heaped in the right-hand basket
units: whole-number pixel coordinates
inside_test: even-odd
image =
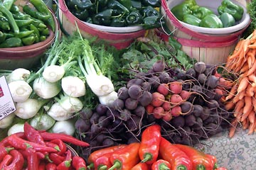
[[[218,5],[218,16],[212,9],[198,6],[194,0],[186,0],[171,8],[171,12],[179,21],[206,28],[226,28],[235,26],[242,19],[242,6],[230,0],[223,0]]]

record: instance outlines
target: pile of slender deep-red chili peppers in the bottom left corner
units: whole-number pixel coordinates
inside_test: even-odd
[[[85,160],[65,142],[88,146],[70,135],[38,131],[26,122],[24,132],[1,140],[0,169],[86,169]]]

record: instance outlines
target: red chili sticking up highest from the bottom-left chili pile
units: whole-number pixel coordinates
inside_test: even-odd
[[[35,142],[40,145],[46,145],[40,132],[38,132],[38,130],[29,125],[28,122],[24,123],[24,135],[26,136],[26,139],[30,142]]]

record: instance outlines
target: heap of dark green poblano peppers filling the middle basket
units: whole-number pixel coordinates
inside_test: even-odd
[[[65,1],[68,9],[81,21],[100,26],[142,26],[148,30],[164,23],[156,8],[161,1],[133,0],[71,0]]]

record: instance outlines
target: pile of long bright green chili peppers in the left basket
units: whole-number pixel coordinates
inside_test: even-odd
[[[55,31],[53,15],[43,0],[31,0],[22,6],[14,2],[0,1],[0,48],[42,42]]]

